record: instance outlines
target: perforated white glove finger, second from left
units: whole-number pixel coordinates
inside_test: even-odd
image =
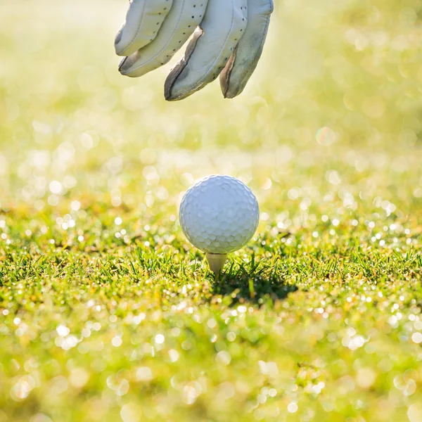
[[[165,65],[203,20],[207,2],[208,0],[174,0],[172,10],[154,41],[120,63],[122,75],[139,77]]]

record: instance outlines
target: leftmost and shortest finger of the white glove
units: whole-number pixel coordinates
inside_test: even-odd
[[[132,0],[126,22],[115,38],[117,56],[129,56],[153,41],[172,3],[173,0]]]

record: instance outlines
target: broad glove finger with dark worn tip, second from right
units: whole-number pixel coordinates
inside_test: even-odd
[[[248,23],[247,0],[209,0],[200,29],[165,82],[165,98],[181,100],[216,79]]]

